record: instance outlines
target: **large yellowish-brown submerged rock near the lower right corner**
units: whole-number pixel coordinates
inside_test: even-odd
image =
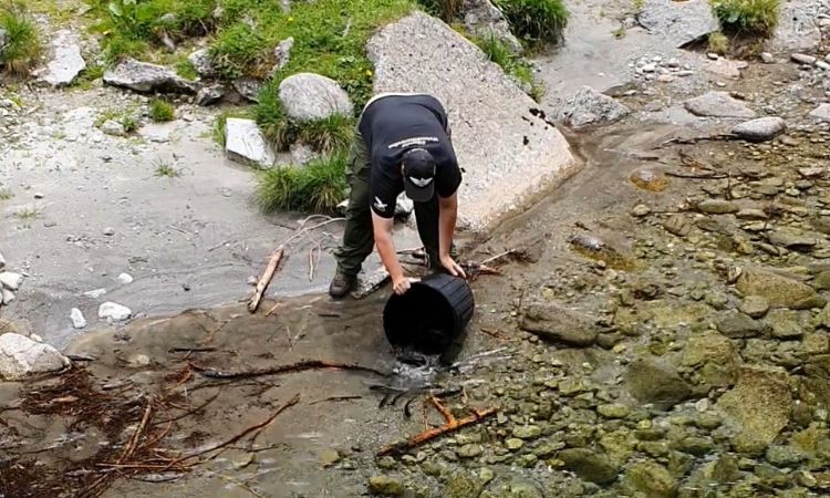
[[[744,366],[735,387],[715,407],[745,438],[771,443],[790,421],[792,396],[787,373],[762,366]]]

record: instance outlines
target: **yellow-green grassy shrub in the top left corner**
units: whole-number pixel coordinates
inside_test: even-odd
[[[28,75],[38,64],[42,48],[38,28],[27,14],[23,3],[8,1],[0,4],[0,29],[8,37],[0,66],[18,76]]]

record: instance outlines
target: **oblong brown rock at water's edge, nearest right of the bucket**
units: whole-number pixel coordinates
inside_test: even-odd
[[[521,328],[547,341],[588,346],[596,342],[595,320],[554,302],[532,301],[522,304]]]

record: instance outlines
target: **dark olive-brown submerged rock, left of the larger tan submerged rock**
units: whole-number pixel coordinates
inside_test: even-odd
[[[688,398],[692,390],[671,364],[657,359],[635,360],[625,373],[625,385],[636,400],[667,409]]]

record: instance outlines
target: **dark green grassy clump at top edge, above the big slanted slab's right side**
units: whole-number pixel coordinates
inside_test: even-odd
[[[568,25],[562,0],[497,0],[513,33],[533,45],[557,43]]]

